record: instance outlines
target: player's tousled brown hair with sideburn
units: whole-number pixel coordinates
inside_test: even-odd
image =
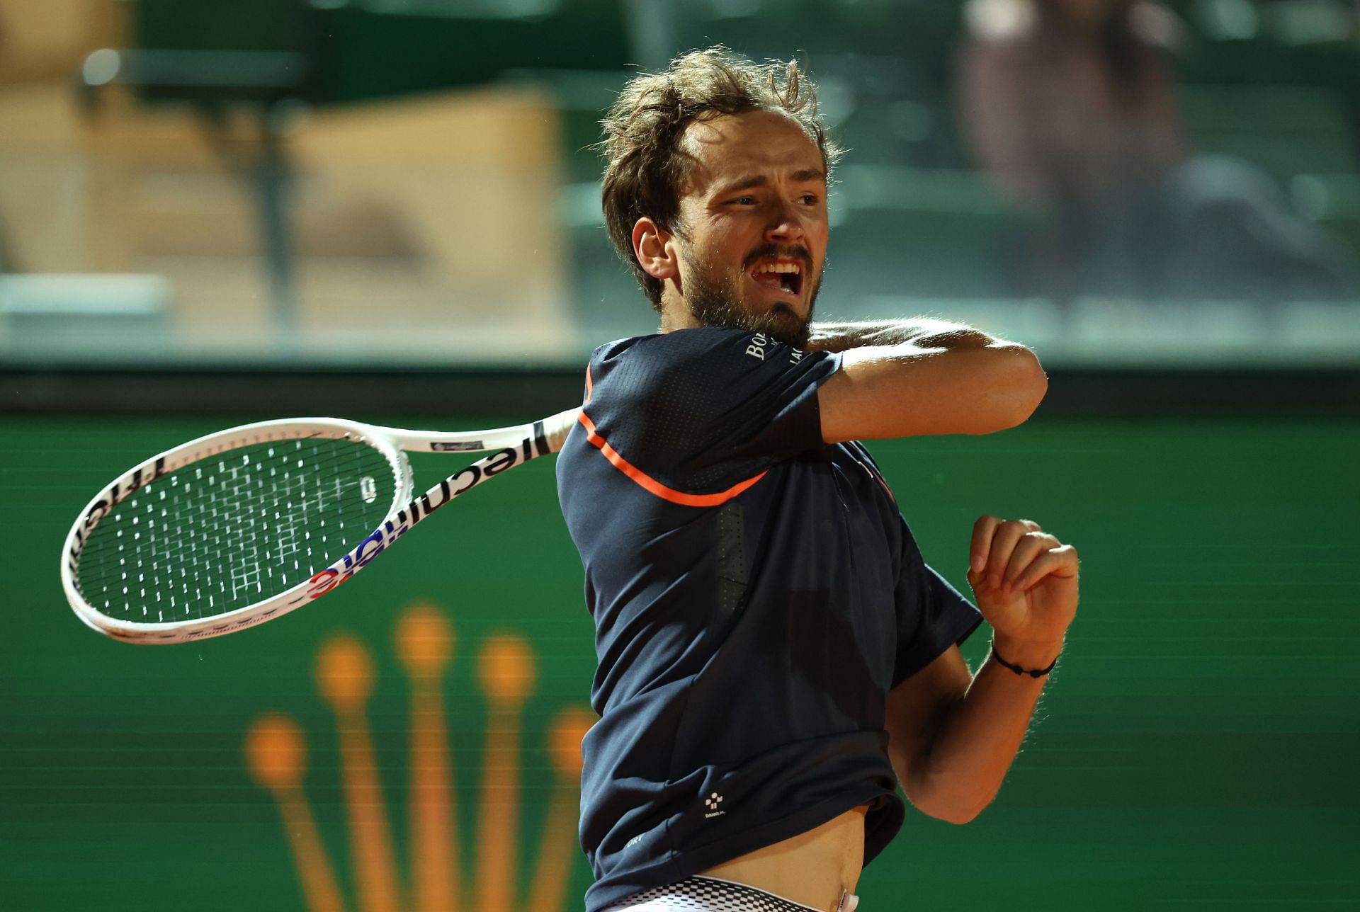
[[[724,114],[775,111],[792,117],[815,140],[827,179],[842,150],[817,117],[816,87],[796,60],[753,64],[722,45],[694,50],[660,73],[628,80],[601,121],[604,220],[619,256],[632,266],[651,306],[661,310],[661,280],[649,276],[632,249],[632,226],[646,216],[672,234],[679,230],[680,188],[692,156],[681,148],[695,121]]]

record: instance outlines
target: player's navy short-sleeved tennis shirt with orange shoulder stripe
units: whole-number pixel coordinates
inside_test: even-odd
[[[860,805],[865,863],[902,825],[887,693],[982,616],[926,567],[869,453],[823,443],[839,366],[718,328],[590,359],[558,457],[598,658],[589,912]]]

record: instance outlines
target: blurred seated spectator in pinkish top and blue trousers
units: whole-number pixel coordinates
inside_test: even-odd
[[[1167,56],[1179,22],[1138,0],[970,0],[963,122],[982,167],[1042,212],[1017,294],[1336,299],[1340,251],[1268,177],[1194,156]]]

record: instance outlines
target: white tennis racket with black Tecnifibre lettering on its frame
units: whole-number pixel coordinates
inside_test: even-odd
[[[209,434],[90,502],[67,536],[61,584],[80,620],[114,639],[235,633],[332,591],[487,478],[556,453],[578,413],[456,434],[340,419]],[[404,450],[494,453],[413,496]]]

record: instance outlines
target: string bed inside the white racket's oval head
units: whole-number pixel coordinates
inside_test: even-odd
[[[90,533],[88,603],[124,620],[223,614],[310,579],[386,516],[398,480],[379,450],[307,438],[252,444],[143,487]]]

